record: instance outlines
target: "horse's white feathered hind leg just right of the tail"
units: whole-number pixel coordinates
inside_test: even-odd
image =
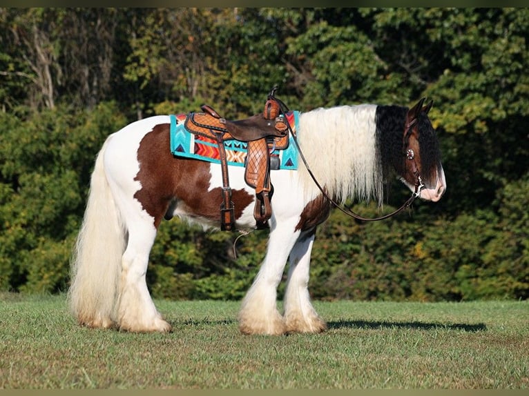
[[[152,218],[129,221],[128,244],[122,257],[119,281],[118,325],[134,332],[171,330],[151,299],[146,284],[148,256],[156,237]]]

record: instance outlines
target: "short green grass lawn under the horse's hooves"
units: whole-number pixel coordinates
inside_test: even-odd
[[[244,336],[239,303],[157,301],[169,334],[0,294],[0,388],[529,388],[529,302],[316,301],[320,335]]]

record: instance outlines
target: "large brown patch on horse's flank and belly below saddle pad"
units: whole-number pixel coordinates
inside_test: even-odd
[[[154,218],[156,228],[175,201],[177,206],[186,208],[189,215],[204,217],[220,226],[222,188],[209,190],[211,164],[175,158],[169,149],[169,130],[169,123],[157,125],[140,142],[137,150],[140,171],[135,180],[140,181],[142,188],[135,193],[135,199]],[[235,219],[238,219],[254,197],[246,190],[232,190],[231,197]]]

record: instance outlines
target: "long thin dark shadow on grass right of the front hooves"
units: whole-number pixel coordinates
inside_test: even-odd
[[[418,330],[463,330],[468,332],[477,332],[487,330],[483,323],[479,324],[440,324],[440,323],[423,323],[421,321],[329,321],[328,328],[414,328]]]

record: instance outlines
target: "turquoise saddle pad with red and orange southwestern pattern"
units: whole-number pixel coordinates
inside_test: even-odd
[[[298,111],[286,113],[294,132],[298,129]],[[175,157],[200,159],[202,161],[220,164],[218,145],[215,139],[209,139],[200,135],[194,135],[186,130],[184,121],[185,114],[169,115],[171,119],[171,152]],[[289,146],[285,150],[273,150],[271,157],[277,156],[280,159],[279,169],[298,169],[298,149],[294,143],[294,138],[289,134]],[[224,141],[228,165],[244,166],[244,159],[247,155],[247,142],[238,140]]]

